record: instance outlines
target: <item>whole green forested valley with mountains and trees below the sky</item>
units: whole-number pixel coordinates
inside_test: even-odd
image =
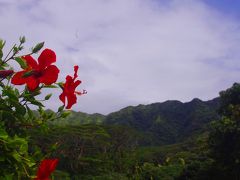
[[[57,179],[237,180],[239,95],[235,83],[206,102],[166,101],[107,116],[72,112],[31,131],[31,144],[60,158]]]

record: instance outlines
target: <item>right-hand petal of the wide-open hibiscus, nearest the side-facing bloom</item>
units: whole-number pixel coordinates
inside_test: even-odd
[[[41,83],[50,85],[58,79],[59,69],[55,65],[48,66],[42,71],[42,76],[39,78]]]

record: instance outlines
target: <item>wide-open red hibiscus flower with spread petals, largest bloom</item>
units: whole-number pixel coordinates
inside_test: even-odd
[[[22,58],[26,61],[27,68],[13,76],[12,84],[27,84],[28,89],[34,91],[40,83],[50,85],[57,81],[59,69],[52,65],[56,62],[56,54],[52,50],[43,50],[38,58],[38,63],[30,55]],[[26,73],[29,74],[26,76]]]

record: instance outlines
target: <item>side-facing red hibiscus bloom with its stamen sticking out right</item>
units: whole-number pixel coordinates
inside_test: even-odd
[[[59,96],[59,99],[64,103],[64,105],[66,104],[65,100],[67,99],[67,107],[66,107],[66,109],[70,109],[73,104],[77,103],[77,96],[76,96],[76,94],[77,95],[86,94],[85,90],[83,92],[75,91],[77,86],[79,84],[81,84],[80,80],[76,80],[76,78],[78,77],[77,71],[78,71],[78,66],[74,66],[74,77],[71,77],[69,75],[66,77],[66,82],[63,85],[63,92]]]

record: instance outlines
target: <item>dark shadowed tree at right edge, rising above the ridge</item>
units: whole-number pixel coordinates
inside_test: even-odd
[[[220,92],[221,119],[212,123],[210,155],[218,179],[240,179],[240,84]]]

